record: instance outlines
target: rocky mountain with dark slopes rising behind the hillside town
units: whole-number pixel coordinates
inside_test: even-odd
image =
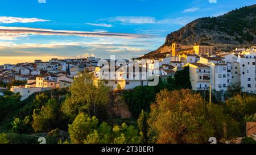
[[[216,51],[255,45],[256,5],[245,6],[217,17],[196,19],[168,34],[164,45],[146,56],[170,52],[171,44],[175,41],[183,45],[209,43],[216,47]]]

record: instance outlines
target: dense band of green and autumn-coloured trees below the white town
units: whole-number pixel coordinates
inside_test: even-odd
[[[56,89],[20,96],[0,96],[0,143],[208,143],[245,136],[247,121],[255,121],[256,97],[234,87],[228,100],[209,104],[192,90],[188,68],[175,78],[159,79],[158,86],[118,90],[131,119],[102,118],[110,104],[110,90],[104,81],[82,73],[69,89]],[[239,89],[239,91],[238,91]],[[208,98],[208,97],[206,97]],[[138,119],[138,120],[137,120]],[[136,121],[137,120],[137,121]],[[123,123],[125,122],[125,123]],[[253,143],[243,139],[243,143]]]

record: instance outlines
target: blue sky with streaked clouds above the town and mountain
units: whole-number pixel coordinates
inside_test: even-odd
[[[1,0],[0,64],[49,58],[133,58],[197,18],[256,0]]]

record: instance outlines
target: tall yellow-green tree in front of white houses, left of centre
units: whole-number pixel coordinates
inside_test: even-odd
[[[109,102],[109,95],[104,81],[96,80],[91,73],[80,73],[71,85],[71,96],[65,100],[62,110],[73,117],[85,110],[89,116],[96,116],[98,108]]]

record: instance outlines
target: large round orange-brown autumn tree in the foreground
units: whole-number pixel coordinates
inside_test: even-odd
[[[187,89],[162,90],[151,105],[151,139],[156,143],[207,143],[214,131],[206,115],[206,103],[200,94]]]

